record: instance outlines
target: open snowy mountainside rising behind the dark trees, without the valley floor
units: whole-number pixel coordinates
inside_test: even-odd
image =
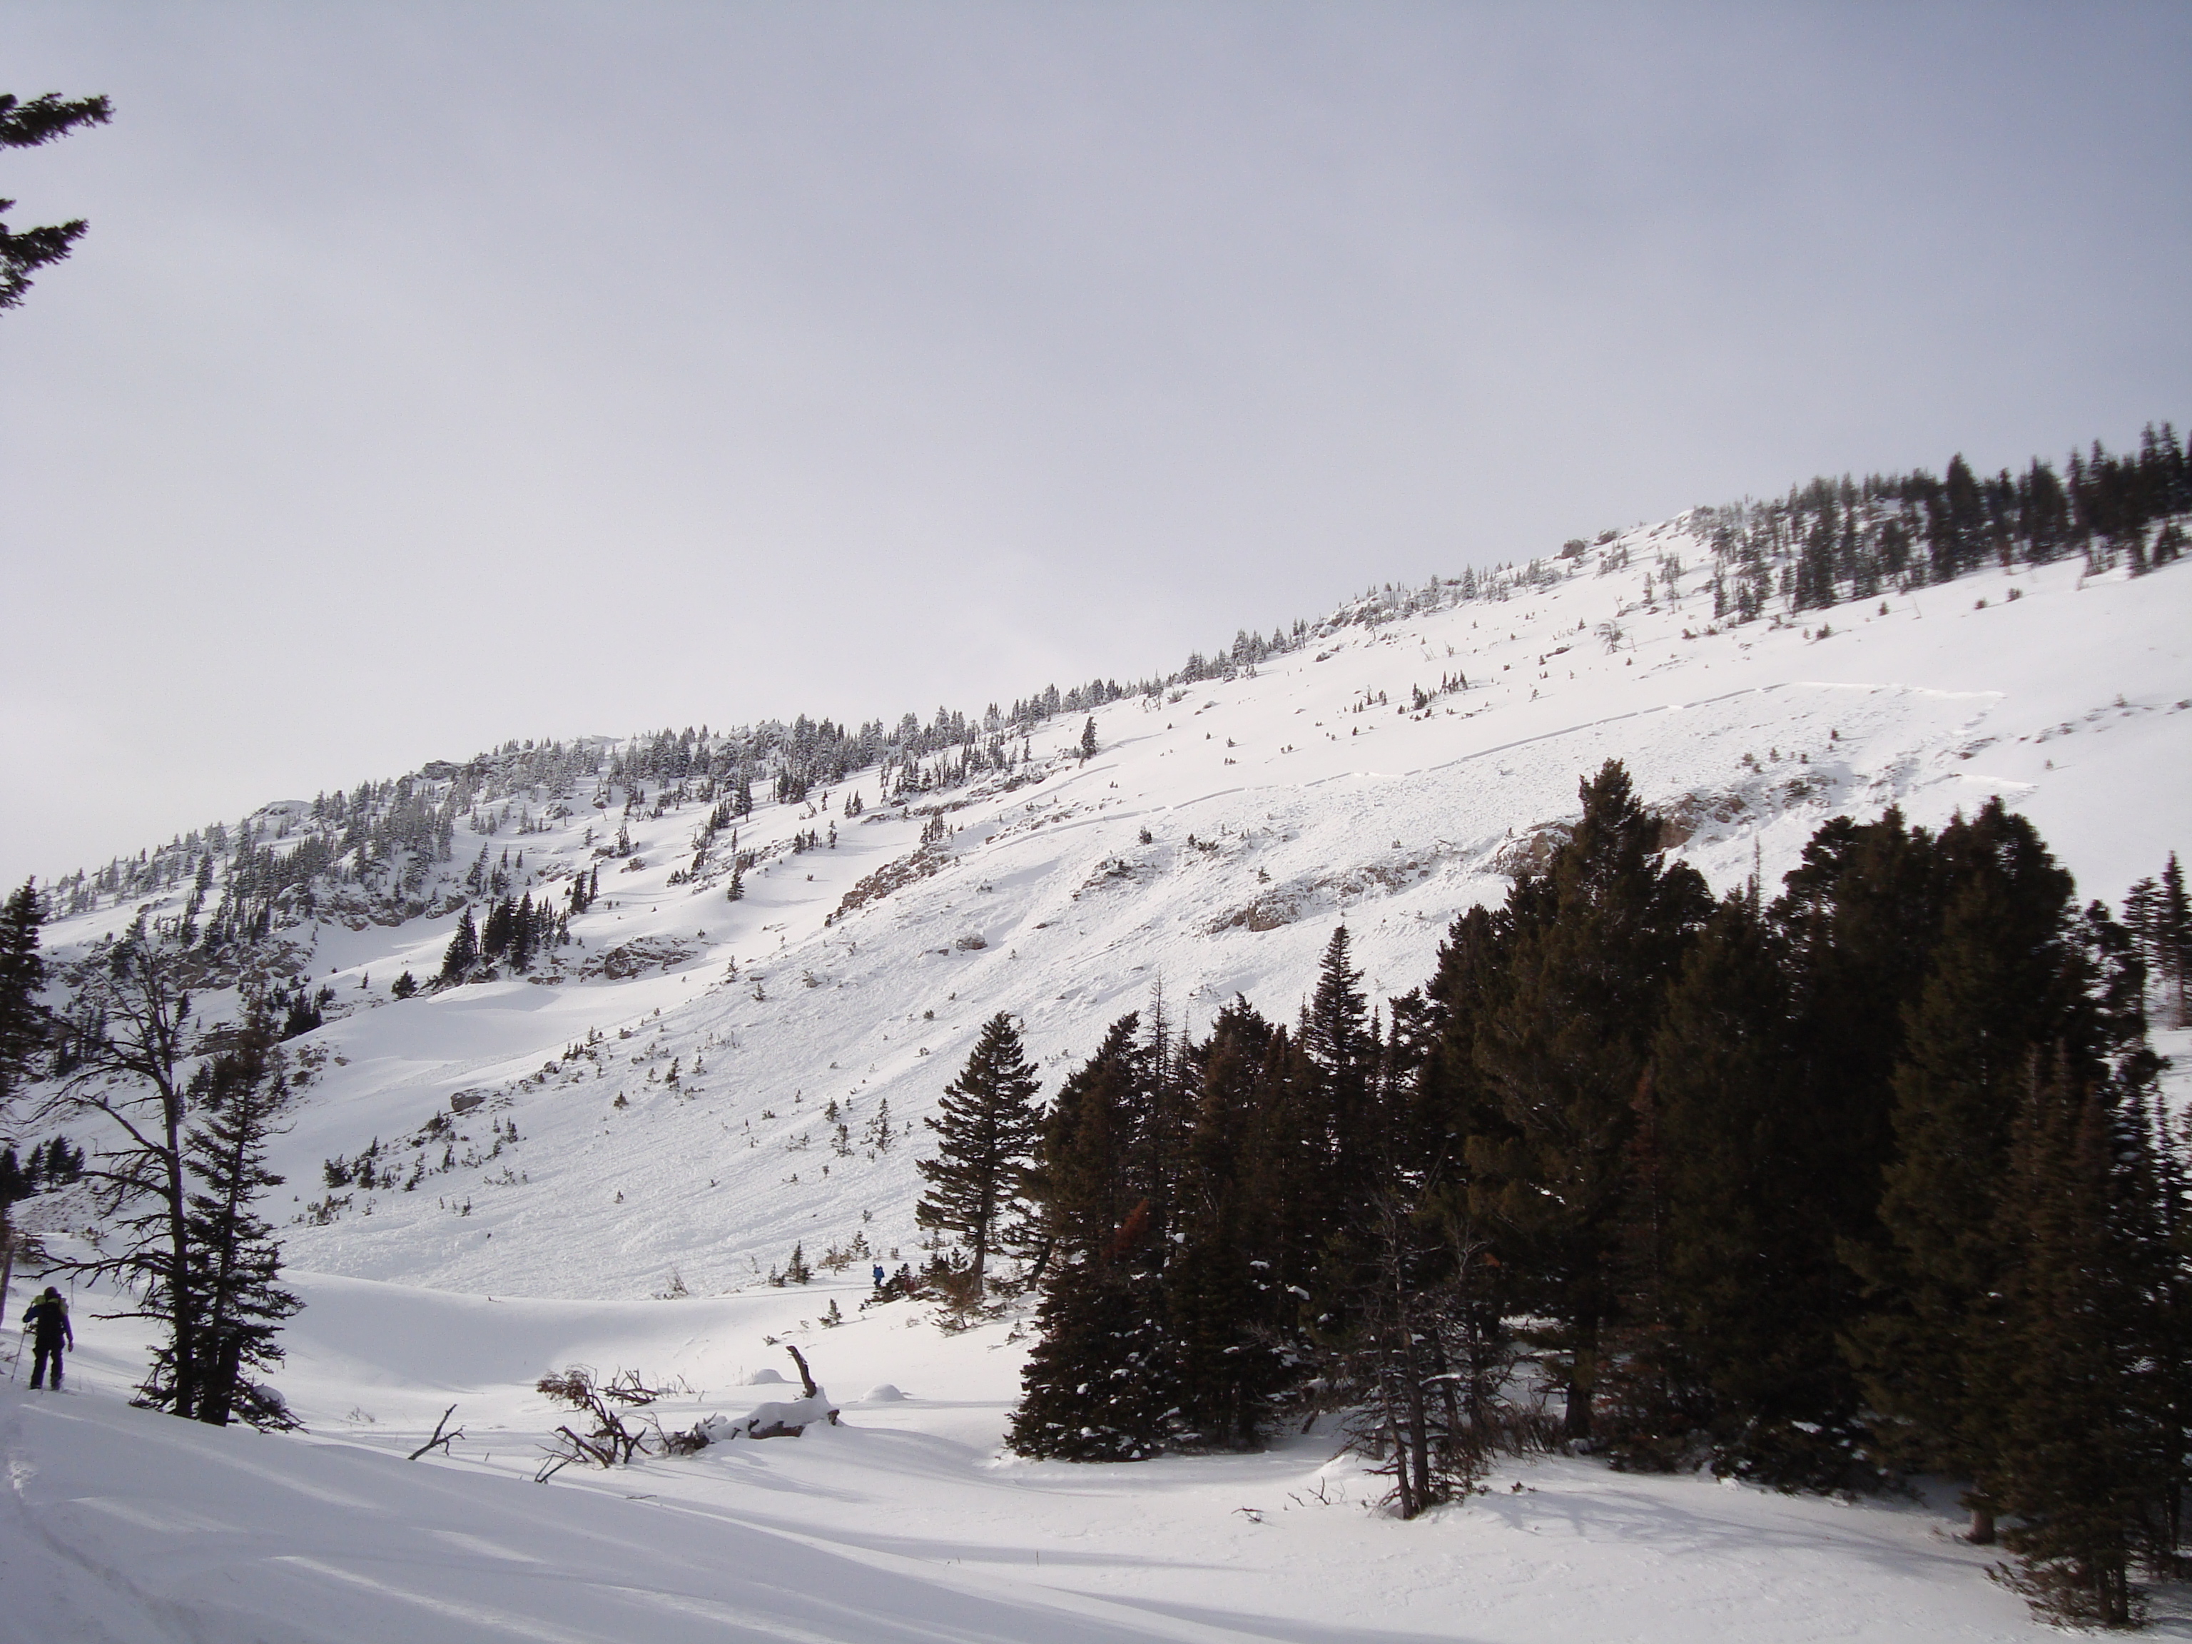
[[[1109,704],[1089,758],[1083,719],[1052,719],[1028,763],[921,809],[870,783],[846,818],[859,776],[763,804],[741,820],[761,853],[741,901],[721,866],[673,881],[706,804],[620,818],[581,796],[555,815],[537,796],[537,831],[493,842],[524,850],[513,894],[601,870],[559,973],[397,1002],[399,971],[438,969],[454,910],[285,932],[335,993],[289,1041],[292,1265],[633,1298],[752,1285],[794,1243],[912,1258],[916,1122],[989,1015],[1017,1013],[1054,1081],[1160,989],[1175,1024],[1234,993],[1291,1015],[1342,918],[1374,993],[1405,991],[1607,758],[1721,888],[1754,866],[1778,881],[1828,815],[1898,804],[1931,824],[1995,794],[2087,897],[2115,901],[2192,844],[2183,563],[2137,581],[2058,563],[1725,627],[1703,576],[1670,572],[1683,530]],[[618,822],[633,855],[596,857]],[[59,921],[48,945],[81,949],[136,905]],[[465,1092],[484,1100],[425,1133]],[[386,1186],[322,1186],[322,1160],[375,1140]]]

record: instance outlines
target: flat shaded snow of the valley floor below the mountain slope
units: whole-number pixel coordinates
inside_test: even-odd
[[[283,1377],[307,1436],[129,1409],[142,1363],[85,1320],[70,1392],[0,1392],[7,1640],[2025,1640],[1933,1502],[1841,1504],[1506,1462],[1401,1523],[1331,1436],[1120,1466],[1000,1451],[1021,1346],[866,1287],[544,1302],[305,1276]],[[848,1324],[813,1320],[837,1300]],[[798,1342],[844,1409],[802,1438],[566,1469],[546,1368],[638,1368],[741,1414]],[[892,1383],[903,1398],[861,1396]],[[447,1405],[449,1460],[406,1462]],[[1519,1488],[1517,1488],[1519,1486]],[[2164,1596],[2164,1637],[2192,1624]]]

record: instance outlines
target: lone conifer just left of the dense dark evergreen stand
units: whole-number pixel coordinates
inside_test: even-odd
[[[914,1221],[969,1247],[975,1298],[1000,1230],[1024,1214],[1024,1177],[1041,1133],[1039,1087],[1013,1017],[1000,1011],[982,1024],[967,1065],[945,1085],[936,1116],[925,1120],[940,1151],[916,1164],[929,1186],[914,1206]]]

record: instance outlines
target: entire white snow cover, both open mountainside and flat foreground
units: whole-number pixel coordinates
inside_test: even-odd
[[[1600,574],[1620,548],[1635,570]],[[1545,1458],[1401,1523],[1328,1431],[1258,1455],[1032,1464],[1002,1451],[1013,1320],[949,1333],[927,1306],[861,1309],[866,1258],[765,1282],[794,1243],[918,1258],[918,1120],[989,1015],[1024,1019],[1054,1087],[1160,986],[1175,1024],[1234,993],[1291,1017],[1339,921],[1374,995],[1401,993],[1609,756],[1719,888],[1754,866],[1776,883],[1828,815],[1898,804],[1938,824],[1997,794],[2085,897],[2113,903],[2192,844],[2192,570],[1986,574],[1708,633],[1694,572],[1644,603],[1664,548],[1694,552],[1679,522],[1640,528],[1530,594],[1337,627],[1254,677],[1114,704],[1089,761],[1081,721],[1052,721],[1015,787],[940,796],[949,835],[929,848],[872,778],[857,820],[842,794],[763,807],[741,846],[829,822],[837,846],[769,855],[739,903],[719,879],[669,883],[695,809],[633,815],[647,866],[601,864],[557,984],[395,1002],[397,971],[438,969],[454,916],[292,932],[346,1011],[289,1043],[305,1081],[278,1155],[307,1298],[278,1383],[309,1434],[129,1409],[142,1337],[81,1295],[70,1390],[0,1392],[0,1637],[2043,1633],[1986,1578],[1993,1554],[1953,1539],[1951,1491],[1846,1504]],[[1466,688],[1414,706],[1449,675]],[[539,872],[590,857],[587,822],[504,844]],[[59,923],[48,945],[66,956],[132,912]],[[2161,1048],[2183,1059],[2185,1039]],[[458,1094],[482,1100],[414,1146]],[[399,1175],[416,1162],[416,1186],[340,1203],[320,1162],[373,1140]],[[35,1210],[48,1241],[70,1236],[66,1197]],[[677,1379],[677,1427],[785,1396],[756,1381],[791,1374],[783,1342],[842,1425],[533,1482],[563,1418],[533,1392],[546,1370]],[[465,1436],[406,1462],[449,1405]],[[2168,1594],[2161,1629],[2192,1635]]]

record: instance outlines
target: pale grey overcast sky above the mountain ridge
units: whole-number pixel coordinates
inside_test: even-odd
[[[2192,421],[2192,7],[22,4],[0,877]]]

